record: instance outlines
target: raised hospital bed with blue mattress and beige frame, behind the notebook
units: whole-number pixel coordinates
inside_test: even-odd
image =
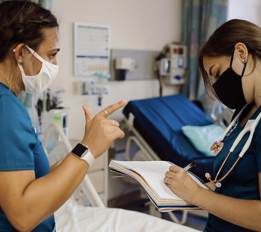
[[[197,160],[192,172],[204,181],[205,173],[212,176],[214,157],[197,151],[183,135],[182,126],[206,126],[213,121],[187,97],[180,94],[131,101],[123,114],[131,134],[126,142],[126,160],[166,160],[181,167]],[[227,121],[230,123],[230,119],[220,115],[217,121],[223,126]],[[155,215],[157,212],[151,209],[154,207],[150,207],[150,214]],[[171,219],[180,224],[186,222],[187,213],[183,211],[182,220],[178,220],[173,212],[168,212]]]

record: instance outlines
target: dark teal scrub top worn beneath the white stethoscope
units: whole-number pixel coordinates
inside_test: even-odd
[[[232,120],[240,112],[240,110],[242,110],[242,108],[243,106],[235,110]],[[224,146],[220,153],[215,157],[214,176],[217,174],[220,166],[222,165],[227,154],[229,153],[229,150],[233,142],[246,126],[246,124],[242,127],[240,126],[241,119],[244,117],[246,109],[247,108],[244,109],[237,122],[235,122],[235,124],[233,125],[231,130],[226,134],[223,140]],[[261,106],[255,111],[255,113],[250,117],[249,120],[256,119],[260,112]],[[225,162],[218,176],[219,178],[223,177],[227,173],[227,171],[229,171],[229,169],[232,167],[232,165],[238,158],[238,155],[241,152],[244,144],[247,142],[248,137],[249,133],[244,135],[238,146],[236,146],[235,150],[230,154],[229,158]],[[216,188],[215,192],[238,199],[260,200],[258,182],[259,172],[261,172],[261,120],[255,128],[255,132],[253,134],[253,138],[248,150],[243,155],[243,157],[240,158],[240,160],[235,165],[231,173],[229,173],[229,175],[226,176],[224,180],[220,182],[222,185],[220,188]],[[224,231],[250,232],[253,230],[237,226],[209,213],[204,232]]]

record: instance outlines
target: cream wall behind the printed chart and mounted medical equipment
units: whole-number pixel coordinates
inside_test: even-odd
[[[157,80],[110,83],[110,93],[104,96],[102,107],[96,96],[73,95],[73,22],[111,25],[112,48],[160,50],[164,44],[181,40],[181,0],[53,0],[53,12],[61,21],[61,51],[57,55],[60,66],[51,89],[64,88],[63,106],[69,107],[71,139],[84,136],[84,112],[81,105],[90,107],[93,114],[122,99],[140,99],[158,95]],[[164,95],[177,93],[177,88],[164,88]],[[121,112],[113,115],[120,120]]]

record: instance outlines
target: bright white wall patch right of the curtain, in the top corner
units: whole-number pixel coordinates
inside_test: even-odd
[[[261,26],[260,0],[229,0],[227,20],[244,19]]]

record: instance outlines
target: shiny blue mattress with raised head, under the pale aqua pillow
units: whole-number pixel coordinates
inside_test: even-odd
[[[129,102],[124,110],[135,116],[134,127],[151,146],[161,160],[187,166],[194,160],[195,175],[206,180],[205,173],[213,176],[214,157],[207,157],[197,151],[182,133],[182,126],[206,126],[213,124],[200,108],[184,95],[171,95]]]

